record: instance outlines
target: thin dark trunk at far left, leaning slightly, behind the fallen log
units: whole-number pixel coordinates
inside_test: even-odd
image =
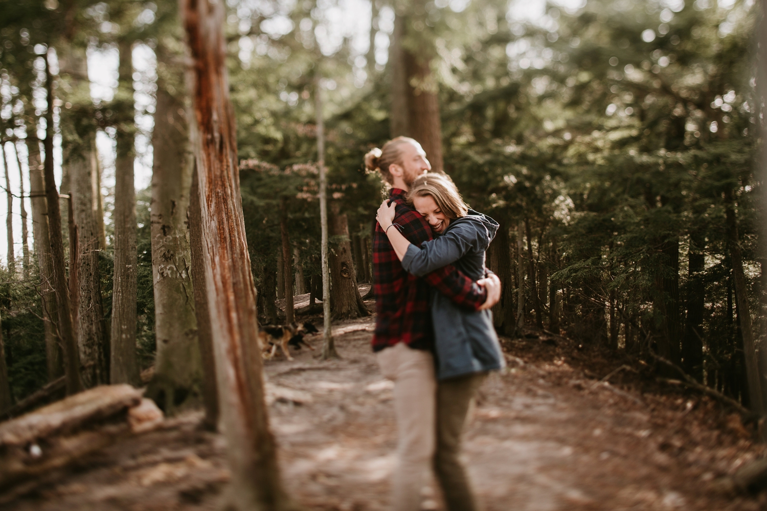
[[[45,58],[45,91],[48,107],[45,111],[45,162],[44,181],[45,198],[48,204],[48,234],[51,241],[51,274],[58,305],[58,338],[64,352],[64,375],[67,379],[67,395],[73,395],[83,389],[80,378],[80,353],[77,339],[72,331],[72,316],[69,310],[69,292],[67,277],[64,272],[64,240],[61,235],[61,209],[58,205],[58,190],[54,178],[53,161],[53,75]]]

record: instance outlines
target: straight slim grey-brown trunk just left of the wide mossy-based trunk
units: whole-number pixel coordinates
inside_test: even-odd
[[[114,285],[110,332],[110,382],[139,385],[139,368],[136,359],[137,225],[136,191],[133,189],[133,160],[136,155],[133,137],[135,111],[133,108],[132,41],[123,39],[120,41],[119,47],[119,82],[114,106],[119,122],[117,123],[117,156],[114,162]],[[160,103],[159,100],[158,103]],[[157,148],[154,152],[155,158],[172,151],[170,147],[165,145],[158,144],[155,147]],[[183,162],[183,160],[181,161]],[[98,172],[98,169],[95,169],[95,172]],[[154,198],[154,188],[152,191]],[[97,198],[94,197],[94,200],[97,201]],[[152,201],[153,217],[156,215],[155,208],[159,209],[162,206],[156,205]],[[154,221],[151,222],[151,228],[155,228]],[[154,237],[152,239],[154,241]],[[152,259],[154,262],[154,257]],[[154,264],[152,266],[154,269]],[[156,279],[154,287],[156,293]],[[183,302],[176,303],[175,306],[180,306],[181,303]],[[160,322],[157,324],[159,326]],[[158,345],[160,345],[165,339],[160,337],[159,331],[156,333]],[[157,355],[159,358],[160,349],[157,350]],[[157,369],[158,364],[155,363],[155,370]],[[170,399],[169,401],[173,400]]]

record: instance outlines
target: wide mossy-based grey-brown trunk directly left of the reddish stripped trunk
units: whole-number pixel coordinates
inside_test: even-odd
[[[158,57],[163,59],[164,53],[160,51]],[[166,70],[173,65],[164,64]],[[183,83],[181,77],[175,81]],[[205,396],[193,289],[197,281],[189,274],[192,254],[187,212],[194,162],[189,153],[189,123],[183,100],[171,93],[167,85],[158,80],[152,140],[153,146],[163,148],[154,152],[152,174],[152,274],[157,338],[153,386],[163,394],[166,413],[172,414],[173,408],[186,398]]]

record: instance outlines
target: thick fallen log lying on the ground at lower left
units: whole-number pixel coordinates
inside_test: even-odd
[[[162,412],[142,394],[102,385],[0,424],[0,491],[156,427]]]

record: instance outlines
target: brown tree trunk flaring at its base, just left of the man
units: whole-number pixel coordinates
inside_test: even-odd
[[[330,251],[331,268],[331,307],[334,319],[369,316],[370,311],[362,302],[357,288],[357,276],[354,262],[351,260],[349,243],[349,224],[346,214],[341,214],[341,205],[331,203],[331,215],[328,231],[334,237],[334,247]]]

